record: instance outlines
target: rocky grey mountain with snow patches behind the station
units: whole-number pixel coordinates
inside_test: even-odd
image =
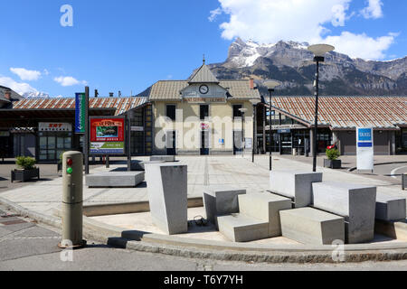
[[[262,80],[277,79],[279,94],[312,95],[315,63],[307,48],[307,42],[260,44],[238,38],[226,61],[209,67],[218,79],[258,79],[262,92]],[[333,51],[321,65],[320,80],[321,94],[407,95],[407,57],[365,61]]]

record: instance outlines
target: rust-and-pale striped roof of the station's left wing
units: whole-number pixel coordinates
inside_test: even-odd
[[[112,108],[115,116],[142,106],[148,98],[90,98],[90,108]],[[33,98],[13,102],[13,109],[75,109],[75,98]]]

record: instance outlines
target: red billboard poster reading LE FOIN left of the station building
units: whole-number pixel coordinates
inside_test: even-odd
[[[90,154],[125,154],[125,118],[90,118]]]

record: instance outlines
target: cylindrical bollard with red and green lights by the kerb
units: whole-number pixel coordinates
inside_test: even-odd
[[[82,239],[83,154],[67,152],[62,157],[62,248],[86,245]]]

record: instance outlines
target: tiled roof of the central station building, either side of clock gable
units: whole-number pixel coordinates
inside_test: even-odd
[[[259,90],[251,89],[250,80],[219,80],[219,85],[228,89],[232,98],[260,98]],[[151,88],[150,100],[181,100],[180,91],[187,86],[187,80],[158,81]]]

